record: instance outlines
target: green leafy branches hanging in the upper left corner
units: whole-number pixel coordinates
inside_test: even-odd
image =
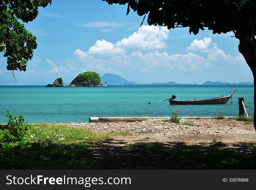
[[[36,37],[18,19],[33,21],[38,8],[48,4],[51,0],[0,0],[0,52],[7,58],[7,70],[26,71],[37,48]]]

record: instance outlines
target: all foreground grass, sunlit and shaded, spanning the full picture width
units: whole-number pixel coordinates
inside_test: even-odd
[[[33,124],[23,141],[0,144],[0,169],[256,169],[255,139],[229,148],[216,136],[187,145],[127,144],[111,140],[116,135],[132,133]]]

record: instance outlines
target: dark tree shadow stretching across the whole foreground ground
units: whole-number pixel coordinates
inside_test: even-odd
[[[110,139],[97,148],[37,143],[2,151],[0,166],[0,169],[256,169],[256,150],[255,144],[221,142],[127,144]]]

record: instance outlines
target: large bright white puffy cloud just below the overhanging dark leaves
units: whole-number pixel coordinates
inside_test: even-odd
[[[167,27],[143,25],[137,32],[118,41],[115,46],[138,49],[162,49],[167,47],[163,40],[169,35]]]

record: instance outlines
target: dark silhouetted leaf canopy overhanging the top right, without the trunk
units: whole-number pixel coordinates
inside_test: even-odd
[[[127,3],[130,8],[143,16],[148,14],[149,25],[189,27],[197,34],[207,27],[213,33],[227,33],[238,27],[248,28],[255,21],[256,2],[253,0],[102,0],[109,4]],[[248,15],[252,16],[250,18]]]

